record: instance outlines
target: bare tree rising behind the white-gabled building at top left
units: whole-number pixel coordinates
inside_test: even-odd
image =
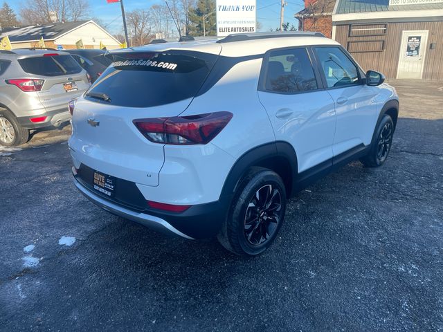
[[[20,16],[24,24],[48,24],[80,21],[88,10],[88,0],[26,0]]]

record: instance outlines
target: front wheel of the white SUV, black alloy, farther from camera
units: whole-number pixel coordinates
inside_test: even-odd
[[[377,127],[376,136],[370,147],[369,153],[360,159],[365,167],[379,167],[385,163],[392,146],[394,135],[394,122],[385,114]]]

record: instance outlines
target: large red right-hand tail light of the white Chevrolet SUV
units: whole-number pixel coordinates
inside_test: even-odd
[[[206,144],[213,140],[233,117],[229,112],[134,120],[137,129],[154,143],[172,145]]]

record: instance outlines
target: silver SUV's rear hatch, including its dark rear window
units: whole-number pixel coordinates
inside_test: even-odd
[[[69,100],[77,98],[89,88],[86,73],[71,55],[46,53],[39,57],[19,59],[18,62],[26,73],[44,80],[37,94],[46,111],[66,109]]]

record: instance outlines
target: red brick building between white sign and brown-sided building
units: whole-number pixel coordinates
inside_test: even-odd
[[[305,0],[305,8],[296,13],[298,30],[315,31],[332,37],[332,12],[335,0]]]

